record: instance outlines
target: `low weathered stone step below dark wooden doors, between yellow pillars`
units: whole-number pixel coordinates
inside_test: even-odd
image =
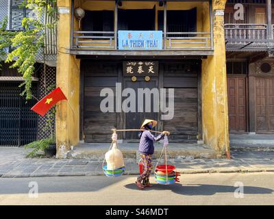
[[[153,159],[160,157],[162,153],[161,143],[154,144]],[[109,150],[110,143],[79,143],[69,151],[68,158],[75,159],[103,159],[105,153]],[[139,159],[138,143],[118,144],[118,148],[122,151],[123,157]],[[216,155],[213,149],[209,149],[206,145],[198,144],[180,144],[171,143],[167,146],[167,157],[192,157],[192,158],[221,158]]]

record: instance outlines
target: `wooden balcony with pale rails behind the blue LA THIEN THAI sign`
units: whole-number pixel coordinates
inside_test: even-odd
[[[198,0],[192,0],[198,1]],[[74,20],[71,20],[71,48],[70,53],[74,55],[94,55],[94,56],[182,56],[182,55],[213,55],[213,21],[212,21],[212,1],[208,1],[208,24],[206,29],[199,26],[199,28],[189,28],[192,31],[185,31],[182,29],[167,27],[166,13],[167,6],[164,1],[163,10],[163,25],[162,29],[159,27],[150,29],[150,31],[162,30],[162,48],[155,50],[126,50],[119,49],[119,21],[118,21],[118,3],[115,1],[114,5],[114,21],[111,31],[90,31],[86,29],[75,29]],[[179,1],[178,1],[179,2]],[[183,2],[183,1],[182,1]],[[74,14],[74,1],[72,1],[71,14]],[[72,16],[73,17],[73,16]],[[195,21],[196,22],[196,21]],[[170,24],[169,24],[170,25]],[[197,24],[196,24],[197,25]],[[113,29],[113,30],[112,30]],[[204,30],[205,31],[201,31]],[[125,30],[125,29],[123,29]],[[171,31],[172,30],[172,31]],[[193,31],[194,30],[194,31]]]

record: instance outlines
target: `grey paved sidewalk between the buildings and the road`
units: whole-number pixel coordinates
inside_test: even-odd
[[[182,174],[206,172],[274,172],[274,151],[233,150],[232,159],[169,159]],[[0,177],[55,177],[103,175],[103,159],[25,158],[23,148],[0,147]],[[153,160],[153,164],[156,164]],[[162,164],[163,160],[161,161]],[[138,175],[136,158],[125,159],[125,175]]]

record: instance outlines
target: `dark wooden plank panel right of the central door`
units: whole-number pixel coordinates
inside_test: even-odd
[[[162,120],[163,129],[171,131],[170,142],[197,142],[198,75],[201,63],[193,60],[166,62],[162,68],[163,87],[174,89],[174,116],[171,120]]]

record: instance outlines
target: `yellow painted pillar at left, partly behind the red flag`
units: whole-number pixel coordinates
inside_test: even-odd
[[[58,0],[58,7],[71,8],[71,1]],[[57,158],[66,157],[70,146],[79,142],[79,60],[68,52],[71,36],[70,21],[70,14],[59,15],[56,83],[68,101],[60,101],[56,107]]]

